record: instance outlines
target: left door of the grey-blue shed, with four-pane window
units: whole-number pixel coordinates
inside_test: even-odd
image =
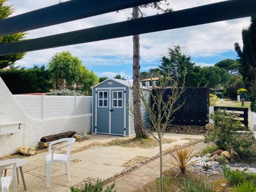
[[[97,93],[97,133],[109,134],[110,90],[99,90]]]

